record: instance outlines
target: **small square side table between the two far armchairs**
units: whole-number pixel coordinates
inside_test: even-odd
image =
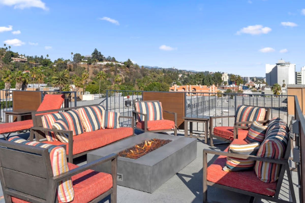
[[[200,136],[200,135],[204,135],[204,143],[207,143],[210,116],[188,115],[188,116],[183,117],[183,119],[184,119],[184,136],[189,137],[189,138],[203,138],[203,136]],[[188,135],[188,122],[190,123],[190,134],[189,135]],[[203,123],[205,125],[204,133],[196,133],[196,135],[193,135],[193,122]]]

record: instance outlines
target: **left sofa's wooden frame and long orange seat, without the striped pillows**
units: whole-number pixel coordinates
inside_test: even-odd
[[[58,110],[48,110],[48,111],[41,111],[40,114],[43,115],[36,115],[37,112],[32,113],[33,117],[33,124],[34,127],[31,128],[30,131],[30,141],[35,140],[38,142],[48,143],[52,145],[66,145],[67,148],[67,157],[68,161],[70,163],[73,163],[73,159],[82,155],[87,154],[88,152],[91,152],[95,149],[101,148],[103,146],[121,141],[123,139],[129,138],[131,136],[135,135],[135,129],[134,129],[134,119],[133,117],[128,116],[119,116],[120,119],[130,119],[131,120],[131,127],[119,127],[119,128],[113,128],[113,129],[97,129],[94,131],[85,131],[84,129],[83,133],[79,135],[73,135],[73,131],[71,129],[69,130],[56,130],[54,128],[50,127],[43,127],[42,117],[46,115],[50,115],[54,113],[54,111],[63,111],[61,113],[76,111],[77,109],[84,109],[84,108],[90,108],[90,107],[101,107],[99,105],[87,105],[87,106],[80,106],[80,107],[69,107],[69,108],[63,108]],[[90,120],[90,119],[89,119]],[[91,120],[92,121],[92,120]],[[77,122],[77,121],[75,121]],[[78,121],[83,123],[83,121]],[[47,135],[49,132],[54,133],[60,133],[66,135],[66,143],[61,142],[58,139],[54,140],[45,140],[45,138],[48,138]]]

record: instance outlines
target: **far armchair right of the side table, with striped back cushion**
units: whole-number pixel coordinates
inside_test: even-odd
[[[253,121],[267,124],[270,109],[254,106],[240,105],[237,107],[235,115],[228,116],[211,116],[210,117],[210,146],[213,146],[213,138],[220,139],[230,143],[234,138],[245,138],[248,133],[249,125]],[[213,127],[213,119],[234,118],[233,126],[215,126]]]

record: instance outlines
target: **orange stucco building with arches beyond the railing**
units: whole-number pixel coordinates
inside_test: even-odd
[[[188,96],[190,96],[191,93],[207,96],[208,94],[204,93],[216,93],[217,87],[215,85],[173,85],[170,87],[170,92],[187,92]]]

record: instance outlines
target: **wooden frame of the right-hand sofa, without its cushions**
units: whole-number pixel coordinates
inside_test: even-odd
[[[289,141],[288,141],[287,148],[285,151],[284,159],[271,159],[271,158],[265,158],[265,157],[260,157],[260,156],[244,155],[244,154],[204,149],[203,150],[203,202],[207,202],[207,186],[209,185],[209,186],[216,186],[216,187],[226,189],[229,191],[249,195],[249,196],[251,196],[250,202],[254,202],[255,198],[260,198],[260,199],[262,198],[262,199],[275,201],[275,202],[279,202],[279,203],[289,203],[290,201],[278,199],[278,195],[279,195],[281,185],[283,182],[283,178],[285,175],[285,171],[286,171],[287,177],[288,177],[288,183],[289,183],[289,190],[290,190],[291,196],[292,196],[292,202],[296,203],[296,196],[295,196],[294,189],[293,189],[292,177],[291,177],[291,173],[290,173],[290,169],[289,169],[289,162],[288,162],[289,154],[291,152],[291,142],[292,141],[293,141],[292,137],[289,135]],[[268,195],[257,194],[254,192],[249,192],[249,191],[237,189],[234,187],[228,187],[228,186],[225,186],[222,184],[217,184],[217,183],[208,181],[207,180],[207,154],[230,156],[230,157],[235,157],[235,158],[251,159],[251,160],[255,160],[255,161],[264,161],[264,162],[281,164],[281,169],[280,169],[279,177],[277,180],[277,185],[276,185],[276,190],[275,190],[274,196],[271,197]],[[239,173],[239,172],[229,172],[229,173]]]

